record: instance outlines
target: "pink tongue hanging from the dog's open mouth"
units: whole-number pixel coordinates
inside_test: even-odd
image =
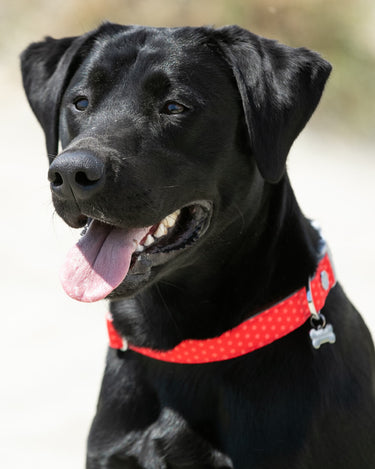
[[[63,265],[60,280],[65,292],[78,301],[105,298],[126,277],[131,256],[149,229],[125,230],[93,221]]]

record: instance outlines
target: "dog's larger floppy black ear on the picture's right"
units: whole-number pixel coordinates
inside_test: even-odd
[[[314,112],[331,65],[238,26],[216,30],[241,95],[250,145],[262,176],[278,182],[293,141]]]

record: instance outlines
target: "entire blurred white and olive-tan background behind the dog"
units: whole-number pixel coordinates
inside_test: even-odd
[[[0,0],[0,460],[7,469],[84,467],[106,353],[105,302],[67,298],[58,281],[77,233],[53,215],[44,136],[18,56],[45,35],[103,20],[153,26],[236,23],[333,65],[288,168],[323,227],[338,277],[373,334],[375,3],[373,0]]]

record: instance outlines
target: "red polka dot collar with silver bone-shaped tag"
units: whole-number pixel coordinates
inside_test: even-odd
[[[312,344],[335,341],[332,326],[325,323],[320,314],[330,289],[336,279],[329,254],[319,262],[308,286],[303,287],[271,308],[252,316],[219,337],[205,340],[184,340],[167,351],[137,347],[126,341],[114,328],[110,313],[107,317],[109,346],[119,350],[133,350],[156,360],[172,363],[198,364],[210,363],[246,355],[281,339],[301,327],[308,319],[313,329],[310,331]]]

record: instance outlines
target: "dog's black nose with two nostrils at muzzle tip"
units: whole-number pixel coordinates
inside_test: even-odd
[[[48,171],[51,190],[62,199],[86,200],[104,184],[104,163],[89,152],[67,151]]]

